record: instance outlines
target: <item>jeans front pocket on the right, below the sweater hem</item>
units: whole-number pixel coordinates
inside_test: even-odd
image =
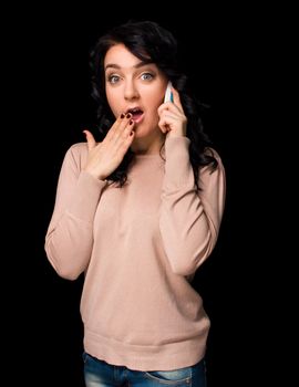
[[[178,385],[183,383],[190,383],[192,367],[185,367],[174,370],[153,370],[145,375],[152,380],[159,381],[164,385]]]

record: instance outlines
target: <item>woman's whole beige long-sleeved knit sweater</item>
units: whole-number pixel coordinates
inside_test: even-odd
[[[205,354],[209,318],[190,280],[210,254],[225,202],[225,171],[200,171],[189,139],[169,137],[165,158],[136,156],[123,188],[82,171],[87,147],[66,153],[45,251],[70,280],[85,272],[85,351],[137,370],[171,370]]]

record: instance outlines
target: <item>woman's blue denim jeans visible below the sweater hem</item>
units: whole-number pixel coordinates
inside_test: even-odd
[[[175,370],[141,372],[113,366],[83,353],[86,387],[206,387],[205,360]]]

